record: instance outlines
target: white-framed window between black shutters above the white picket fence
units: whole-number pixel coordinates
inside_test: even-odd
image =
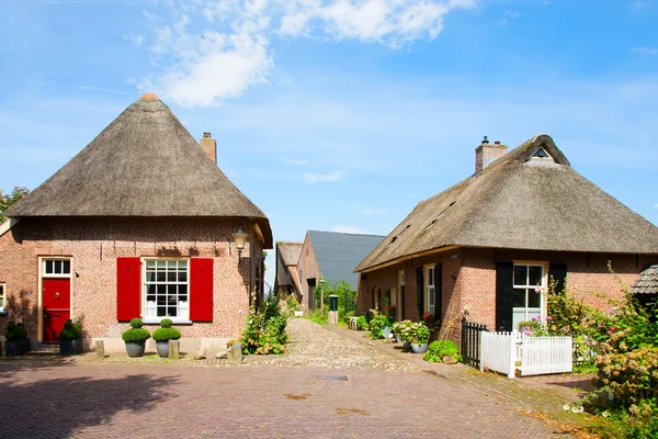
[[[545,274],[544,263],[514,263],[513,329],[519,328],[520,322],[527,322],[537,315],[543,315],[544,299],[542,292],[546,288]]]

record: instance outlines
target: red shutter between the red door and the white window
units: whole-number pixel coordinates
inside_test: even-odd
[[[141,315],[141,261],[116,258],[116,319],[128,322]]]

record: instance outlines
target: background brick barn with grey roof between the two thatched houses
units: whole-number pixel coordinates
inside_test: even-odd
[[[359,275],[354,273],[354,268],[383,238],[381,235],[306,232],[297,263],[302,309],[313,311],[319,307],[314,292],[322,278],[329,284],[343,280],[356,291]]]

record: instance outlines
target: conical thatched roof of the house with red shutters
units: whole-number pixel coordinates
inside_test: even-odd
[[[250,217],[272,248],[263,212],[151,93],[129,105],[8,215]]]

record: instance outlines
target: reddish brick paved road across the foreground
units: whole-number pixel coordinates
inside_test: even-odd
[[[5,439],[561,437],[427,373],[1,361],[0,404]]]

